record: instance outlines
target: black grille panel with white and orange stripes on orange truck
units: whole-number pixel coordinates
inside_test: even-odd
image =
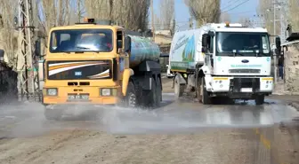
[[[112,77],[111,60],[48,61],[49,80],[96,80]]]

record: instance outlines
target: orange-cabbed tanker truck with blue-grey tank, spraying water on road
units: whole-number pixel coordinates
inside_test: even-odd
[[[159,58],[156,43],[124,27],[93,19],[53,27],[40,63],[45,117],[61,119],[66,105],[158,107]]]

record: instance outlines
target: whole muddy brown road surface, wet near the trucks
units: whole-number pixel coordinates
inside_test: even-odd
[[[0,163],[298,163],[295,108],[279,99],[262,106],[175,101],[170,80],[164,87],[159,109],[77,106],[63,121],[45,121],[38,104],[2,105]]]

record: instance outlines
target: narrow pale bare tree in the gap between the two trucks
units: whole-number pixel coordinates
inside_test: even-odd
[[[170,29],[174,20],[174,0],[160,1],[160,20],[161,29]]]

